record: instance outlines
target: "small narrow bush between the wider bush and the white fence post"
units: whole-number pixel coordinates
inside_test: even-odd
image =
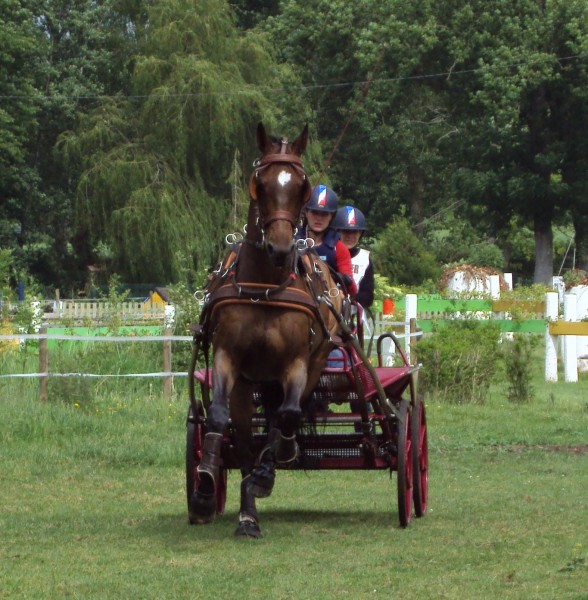
[[[537,345],[537,338],[528,334],[515,334],[512,340],[502,341],[501,357],[508,382],[507,396],[515,404],[533,400],[531,359]]]

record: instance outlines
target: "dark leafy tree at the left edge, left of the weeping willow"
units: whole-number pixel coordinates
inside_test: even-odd
[[[79,114],[125,79],[130,32],[137,27],[129,27],[128,16],[114,4],[9,0],[2,8],[3,26],[16,32],[11,39],[18,43],[8,45],[8,60],[0,67],[6,87],[17,90],[8,107],[15,111],[13,147],[18,148],[12,155],[13,184],[3,186],[2,229],[18,232],[12,242],[16,268],[45,284],[73,286],[85,275],[72,219],[75,174],[64,172],[54,148]],[[137,9],[132,1],[123,4]]]

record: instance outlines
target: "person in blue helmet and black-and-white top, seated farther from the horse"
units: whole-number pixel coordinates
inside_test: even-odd
[[[359,247],[359,242],[367,226],[364,214],[353,206],[343,206],[333,219],[333,227],[341,236],[341,241],[351,254],[353,279],[357,286],[355,299],[368,309],[374,303],[374,265],[368,250]]]

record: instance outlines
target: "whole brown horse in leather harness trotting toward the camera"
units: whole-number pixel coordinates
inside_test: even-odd
[[[224,275],[209,286],[201,320],[213,348],[212,401],[197,486],[189,500],[190,521],[214,518],[230,419],[243,477],[235,531],[241,536],[261,535],[255,500],[270,495],[275,467],[297,457],[303,403],[333,348],[337,320],[331,308],[341,308],[342,295],[328,267],[313,253],[301,253],[295,241],[311,190],[300,159],[307,140],[307,126],[288,143],[268,136],[259,124],[262,155],[249,185],[246,237]],[[251,420],[254,390],[259,389],[271,421],[267,444],[255,456]]]

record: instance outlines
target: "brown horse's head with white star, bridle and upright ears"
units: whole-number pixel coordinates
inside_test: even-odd
[[[247,225],[247,234],[267,251],[275,266],[292,256],[294,236],[302,208],[310,196],[310,183],[300,156],[308,142],[308,125],[293,141],[269,136],[263,123],[257,126],[261,157],[249,183],[249,195],[256,215]]]

